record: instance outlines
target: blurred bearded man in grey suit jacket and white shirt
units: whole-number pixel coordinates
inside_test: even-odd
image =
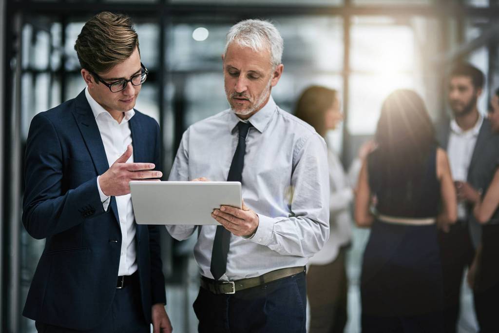
[[[468,182],[480,188],[484,177],[494,175],[499,157],[498,136],[477,106],[482,94],[484,74],[468,63],[454,67],[450,75],[448,100],[454,118],[437,127],[441,146],[447,150],[458,193],[458,221],[440,226],[442,270],[444,276],[445,332],[456,332],[460,291],[464,269],[470,266],[480,242],[480,225],[462,195]],[[490,179],[492,180],[492,178]]]

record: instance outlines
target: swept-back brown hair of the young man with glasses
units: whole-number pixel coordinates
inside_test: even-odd
[[[109,11],[88,20],[74,44],[81,68],[94,73],[105,73],[128,59],[135,47],[139,37],[130,17]]]

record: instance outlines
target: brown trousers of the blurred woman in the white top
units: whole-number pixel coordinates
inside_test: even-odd
[[[310,265],[307,295],[310,304],[309,333],[341,333],[347,322],[346,248],[327,265]]]

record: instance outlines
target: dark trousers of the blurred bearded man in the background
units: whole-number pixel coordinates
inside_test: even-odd
[[[464,270],[471,265],[475,255],[467,224],[458,221],[448,233],[439,231],[439,244],[444,279],[445,332],[455,333]]]

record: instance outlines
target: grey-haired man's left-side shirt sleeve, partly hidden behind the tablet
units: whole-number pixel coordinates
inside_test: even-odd
[[[180,142],[179,150],[177,151],[177,156],[175,156],[175,161],[173,162],[172,171],[170,171],[169,181],[189,181],[189,152],[188,152],[188,142],[189,142],[189,129],[184,132],[182,136],[182,141]],[[189,238],[197,226],[183,226],[183,225],[167,225],[166,230],[170,235],[178,241],[183,241]]]

